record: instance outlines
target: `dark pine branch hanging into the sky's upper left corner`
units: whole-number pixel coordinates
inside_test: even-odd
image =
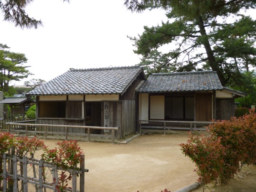
[[[69,0],[63,0],[69,2]],[[26,6],[33,0],[0,0],[0,9],[3,12],[5,21],[10,21],[15,24],[15,27],[35,28],[42,26],[42,21],[28,16]]]

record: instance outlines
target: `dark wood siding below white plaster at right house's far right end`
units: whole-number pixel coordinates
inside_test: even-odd
[[[216,119],[229,120],[234,116],[234,99],[216,99]]]

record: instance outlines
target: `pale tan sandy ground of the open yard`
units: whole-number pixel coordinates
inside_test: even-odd
[[[49,148],[58,142],[43,141]],[[79,142],[85,153],[85,168],[89,169],[85,191],[175,191],[194,183],[195,164],[179,146],[186,141],[187,134],[180,133],[142,135],[128,144]]]

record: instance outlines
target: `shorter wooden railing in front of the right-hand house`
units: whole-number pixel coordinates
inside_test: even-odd
[[[190,127],[187,128],[187,127],[168,127],[168,129],[187,129],[187,130],[190,130],[191,132],[193,130],[206,130],[205,128],[197,128],[197,124],[212,124],[212,123],[216,123],[214,121],[162,121],[162,120],[138,120],[139,121],[139,128],[140,128],[140,133],[141,133],[141,128],[163,128],[163,134],[166,134],[166,123],[178,123],[178,124],[189,124]],[[153,122],[153,123],[162,123],[163,124],[163,127],[161,126],[142,126],[142,122]],[[194,128],[193,128],[193,124],[194,124]]]

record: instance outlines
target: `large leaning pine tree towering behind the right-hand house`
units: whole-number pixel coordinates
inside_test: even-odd
[[[211,69],[225,86],[230,80],[242,83],[240,71],[255,67],[256,21],[241,14],[254,9],[255,0],[125,0],[125,5],[136,12],[166,11],[166,23],[145,26],[139,37],[130,37],[134,53],[143,60],[152,51],[169,47],[170,51],[162,54],[165,62],[158,72],[166,66],[174,67],[173,71]]]

